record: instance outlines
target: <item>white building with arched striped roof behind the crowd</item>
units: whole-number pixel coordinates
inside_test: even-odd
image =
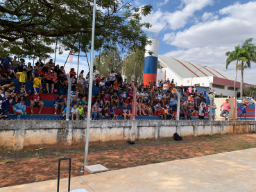
[[[169,80],[173,79],[177,86],[189,87],[196,85],[196,87],[210,87],[216,91],[216,94],[223,94],[223,96],[233,96],[234,94],[234,78],[228,73],[162,55],[158,55],[158,60],[162,69],[157,71],[157,80],[167,80],[169,78]],[[244,89],[248,86],[256,87],[256,85],[244,83]],[[237,82],[237,91],[240,91],[239,87],[240,82]]]

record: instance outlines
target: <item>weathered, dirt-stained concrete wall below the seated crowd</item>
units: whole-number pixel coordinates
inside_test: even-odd
[[[136,141],[204,134],[246,133],[256,121],[91,121],[90,142]],[[85,142],[86,121],[0,121],[0,148]]]

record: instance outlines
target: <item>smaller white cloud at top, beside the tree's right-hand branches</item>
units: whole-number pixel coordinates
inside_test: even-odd
[[[168,1],[164,0],[164,3]],[[151,12],[151,15],[144,17],[142,22],[151,23],[152,28],[150,30],[163,30],[166,27],[176,30],[184,27],[188,19],[194,16],[194,12],[202,10],[205,6],[212,6],[213,3],[213,0],[181,0],[181,4],[178,6],[178,9],[181,10],[162,12],[159,8],[156,12]],[[147,30],[146,28],[144,29]]]

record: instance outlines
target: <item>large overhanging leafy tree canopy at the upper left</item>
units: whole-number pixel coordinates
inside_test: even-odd
[[[151,5],[132,7],[122,0],[96,1],[95,50],[110,49],[112,45],[125,51],[134,46],[148,44],[141,23],[150,14]],[[56,42],[62,49],[88,52],[92,35],[93,0],[3,0],[0,1],[0,48],[3,52],[36,55],[37,47],[47,47]],[[81,33],[81,38],[78,38]],[[7,45],[8,46],[7,46]],[[12,49],[16,47],[17,49]],[[41,52],[40,52],[41,53]]]

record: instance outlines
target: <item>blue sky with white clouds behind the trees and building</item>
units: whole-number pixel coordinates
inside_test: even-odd
[[[225,69],[225,52],[253,37],[256,44],[256,1],[232,0],[135,0],[133,6],[151,4],[151,15],[143,22],[159,30],[159,54],[226,71],[234,76],[234,62]],[[146,33],[148,30],[144,29]],[[63,65],[69,51],[57,54],[56,64]],[[82,53],[84,55],[84,53]],[[95,52],[94,55],[99,55]],[[51,55],[54,58],[54,54]],[[88,55],[90,60],[90,57]],[[27,62],[27,61],[26,61]],[[78,59],[65,67],[77,71]],[[86,58],[80,58],[80,70],[88,71]],[[244,82],[254,84],[256,64],[245,69]],[[237,80],[240,81],[240,71]]]

